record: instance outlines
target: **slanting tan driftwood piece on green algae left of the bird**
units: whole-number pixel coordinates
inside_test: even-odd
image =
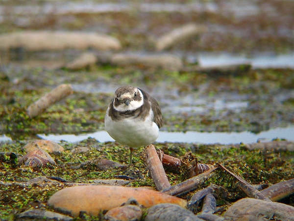
[[[73,93],[73,88],[71,84],[61,84],[58,87],[55,87],[44,97],[41,97],[35,103],[31,104],[27,108],[27,114],[30,118],[33,118],[43,111],[45,111],[48,107],[50,107],[55,102],[61,100],[62,98]]]

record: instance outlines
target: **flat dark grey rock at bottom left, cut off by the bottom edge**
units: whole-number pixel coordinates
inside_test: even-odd
[[[60,221],[72,221],[73,218],[60,213],[55,213],[47,210],[28,210],[20,213],[16,221],[28,221],[28,220],[60,220]]]

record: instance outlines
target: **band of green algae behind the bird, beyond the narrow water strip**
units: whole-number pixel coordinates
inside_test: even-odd
[[[133,69],[134,70],[134,69]],[[61,83],[104,83],[146,85],[154,88],[163,83],[181,94],[198,94],[206,100],[230,94],[248,97],[248,107],[240,111],[209,109],[201,112],[164,112],[167,131],[252,131],[258,133],[272,127],[294,123],[292,97],[277,101],[273,94],[289,94],[293,89],[294,71],[254,70],[245,75],[212,77],[209,73],[131,71],[130,68],[97,67],[90,72],[56,72],[40,68],[8,71],[0,79],[0,133],[24,139],[36,134],[80,134],[104,129],[104,115],[113,92],[74,91],[67,98],[30,119],[27,107]],[[80,78],[83,76],[83,78]],[[17,83],[15,83],[17,79]],[[53,81],[53,83],[52,83]],[[207,86],[199,90],[201,85]],[[187,106],[189,107],[189,106]],[[201,108],[201,106],[199,106]]]

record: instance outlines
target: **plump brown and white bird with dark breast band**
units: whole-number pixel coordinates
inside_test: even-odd
[[[105,129],[117,142],[129,146],[131,166],[133,149],[158,138],[162,113],[158,102],[140,88],[122,86],[114,95],[105,114]]]

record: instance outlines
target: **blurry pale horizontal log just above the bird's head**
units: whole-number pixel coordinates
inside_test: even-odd
[[[163,68],[178,71],[183,62],[174,55],[126,55],[116,54],[111,58],[111,63],[118,66],[137,65],[148,68]]]

